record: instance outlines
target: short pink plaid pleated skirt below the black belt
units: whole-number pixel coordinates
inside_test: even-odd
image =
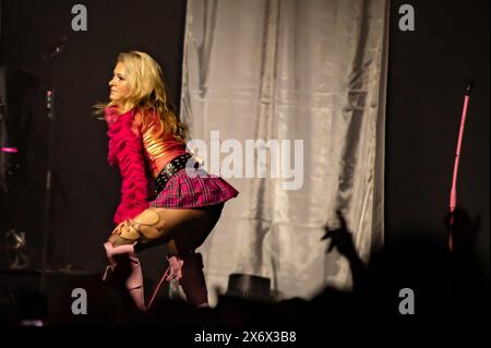
[[[151,207],[173,209],[196,208],[215,205],[236,197],[239,192],[217,176],[209,176],[203,169],[199,176],[188,176],[185,168],[176,172],[157,197],[149,202]]]

